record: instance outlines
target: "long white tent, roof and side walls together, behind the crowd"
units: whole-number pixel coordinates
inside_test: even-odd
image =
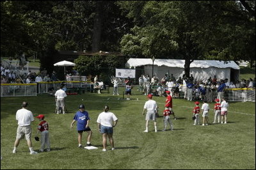
[[[130,58],[125,66],[127,68],[144,66],[145,74],[152,75],[152,59],[150,58]],[[155,59],[154,75],[159,79],[164,77],[165,73],[172,73],[175,78],[182,77],[184,72],[184,59]],[[190,64],[190,74],[197,81],[206,81],[209,77],[216,75],[217,79],[239,79],[240,67],[234,61],[218,60],[194,60]],[[231,73],[232,72],[232,73]],[[230,77],[230,73],[232,74]]]

